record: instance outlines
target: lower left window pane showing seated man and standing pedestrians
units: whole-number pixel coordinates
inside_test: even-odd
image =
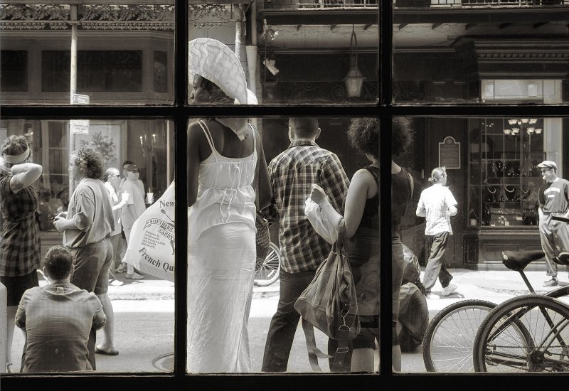
[[[117,357],[112,355],[100,352],[89,355],[95,358],[97,372],[171,372],[169,362],[173,359],[174,352],[175,230],[174,195],[169,197],[166,192],[173,189],[174,183],[174,126],[166,119],[90,119],[83,120],[81,125],[76,121],[0,121],[2,142],[9,136],[26,136],[31,149],[29,161],[42,168],[38,180],[26,187],[25,191],[18,192],[18,197],[23,198],[31,194],[30,199],[34,200],[30,205],[35,208],[36,213],[32,212],[31,220],[26,223],[31,228],[15,239],[13,236],[10,239],[3,236],[2,241],[16,240],[23,244],[28,240],[41,246],[37,258],[26,257],[25,262],[21,261],[18,265],[28,265],[28,273],[31,273],[31,277],[37,275],[38,284],[43,291],[53,291],[54,284],[63,280],[53,281],[55,277],[50,274],[50,269],[40,272],[40,259],[55,245],[72,248],[75,272],[70,283],[80,289],[95,291],[99,298],[93,306],[85,308],[81,300],[70,299],[74,296],[69,295],[68,291],[76,289],[71,285],[65,287],[67,294],[55,295],[60,297],[60,301],[48,299],[52,297],[49,295],[45,296],[46,299],[41,299],[37,294],[28,291],[30,293],[25,294],[23,309],[16,314],[16,324],[25,327],[27,331],[28,350],[23,372],[88,369],[85,366],[85,354],[88,351],[89,331],[95,323],[101,326],[100,316],[95,316],[95,321],[93,320],[92,309],[100,308],[100,303],[106,314],[107,326],[97,331],[97,346],[107,353],[118,351],[122,360],[121,365],[117,366]],[[88,179],[81,178],[82,174],[78,173],[77,169],[70,168],[70,155],[77,154],[76,151],[80,149],[93,151],[81,155],[86,156],[81,158],[87,162],[87,168],[82,172],[86,173]],[[91,157],[93,155],[98,156],[100,163],[95,163],[95,158]],[[128,172],[123,169],[127,161],[134,163],[126,165]],[[4,171],[7,168],[6,163],[2,163],[4,168],[0,181],[7,178]],[[105,181],[105,185],[97,180],[99,176]],[[128,178],[125,179],[125,176]],[[94,201],[89,201],[91,198],[88,195],[92,193],[86,190],[85,186],[93,189]],[[6,189],[6,186],[1,188]],[[125,203],[122,203],[125,192]],[[38,196],[37,200],[34,194]],[[105,198],[100,198],[99,194]],[[13,210],[19,211],[22,206],[15,206],[16,200],[6,193],[2,193],[0,200],[4,227],[21,227],[25,222],[21,220],[21,215]],[[103,213],[100,210],[102,207],[98,205],[105,203],[108,203],[108,209]],[[118,208],[110,213],[112,205],[118,205]],[[106,213],[106,217],[103,220],[97,220],[96,217],[90,220],[88,216],[92,216],[92,213],[89,213],[89,210],[93,208],[97,213],[95,216]],[[83,231],[73,230],[73,227],[68,227],[64,232],[57,229],[58,222],[54,223],[53,217],[61,216],[61,213],[65,212],[69,219],[75,216],[75,220],[70,220],[75,226],[87,222],[81,227],[88,232],[88,236],[81,233]],[[85,213],[86,220],[78,217],[81,213]],[[114,229],[111,228],[111,223]],[[39,230],[34,228],[37,225]],[[9,232],[14,230],[5,230],[3,235]],[[29,239],[32,235],[30,232],[37,234]],[[110,240],[105,238],[105,235],[110,235]],[[31,245],[28,244],[29,246]],[[110,252],[105,252],[108,250]],[[95,251],[97,257],[102,256],[102,259],[92,259],[88,256],[90,251]],[[18,259],[19,253],[20,250],[14,250],[11,259]],[[140,275],[128,268],[120,270],[121,262],[127,260],[135,265],[135,270],[140,272]],[[95,269],[90,275],[95,279],[100,276],[102,282],[86,279],[85,274],[81,273],[85,267],[92,264],[95,264]],[[99,267],[96,267],[97,264]],[[9,277],[23,278],[17,277],[17,272],[11,273],[14,275],[4,274],[2,281]],[[108,279],[105,278],[106,273]],[[33,281],[26,282],[23,288],[32,288],[34,285],[36,284]],[[104,294],[102,292],[105,292],[106,286],[108,291]],[[16,292],[11,292],[11,289],[13,290],[14,286],[9,285],[9,294],[16,296]],[[20,301],[20,297],[16,299],[14,300]],[[42,301],[43,305],[42,311],[39,312],[34,311],[38,301]],[[9,305],[17,306],[18,302]],[[62,311],[63,314],[70,315],[58,315]],[[54,318],[58,318],[58,321],[55,322]],[[14,315],[8,321],[14,322]],[[57,324],[58,328],[54,330],[53,324]],[[114,328],[114,333],[111,327]],[[63,335],[62,328],[65,329]],[[21,368],[21,353],[25,343],[23,333],[16,330],[10,350],[12,369],[15,372]],[[65,356],[53,353],[69,349],[72,353]]]

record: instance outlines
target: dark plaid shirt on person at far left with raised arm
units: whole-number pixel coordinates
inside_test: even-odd
[[[0,276],[18,277],[40,267],[40,228],[36,220],[38,191],[32,186],[14,193],[11,171],[0,169]]]

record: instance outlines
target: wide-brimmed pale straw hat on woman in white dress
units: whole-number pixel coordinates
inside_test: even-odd
[[[212,38],[196,38],[189,43],[188,57],[190,80],[201,75],[241,105],[257,105],[257,97],[247,88],[239,58],[227,45]]]

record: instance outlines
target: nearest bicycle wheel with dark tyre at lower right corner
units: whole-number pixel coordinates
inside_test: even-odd
[[[569,306],[528,294],[496,306],[480,325],[474,368],[481,372],[568,372]]]

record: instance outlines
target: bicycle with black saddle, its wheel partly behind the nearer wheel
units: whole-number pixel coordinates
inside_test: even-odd
[[[529,263],[544,256],[545,253],[541,250],[504,251],[501,254],[504,266],[520,272],[531,293],[535,291],[523,273],[523,269]],[[560,286],[543,296],[553,299],[569,296],[569,286]],[[422,343],[423,362],[427,371],[446,373],[477,371],[473,360],[474,343],[477,341],[482,322],[496,307],[496,304],[490,301],[458,301],[445,307],[432,318]],[[525,332],[521,326],[517,324],[514,326],[520,329],[519,333]]]

